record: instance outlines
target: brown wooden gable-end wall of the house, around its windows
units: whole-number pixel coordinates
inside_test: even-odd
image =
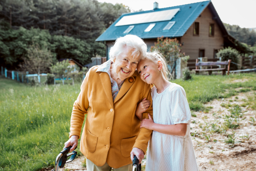
[[[212,14],[208,7],[201,13],[195,22],[199,22],[199,36],[193,35],[193,24],[181,37],[180,43],[183,43],[182,52],[190,56],[190,59],[199,57],[199,49],[205,49],[205,57],[213,58],[214,49],[221,49],[224,43],[221,30],[215,20],[212,20]],[[215,33],[209,37],[209,24],[214,23]]]

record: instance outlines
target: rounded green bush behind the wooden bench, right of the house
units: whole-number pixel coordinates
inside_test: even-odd
[[[221,61],[227,61],[231,59],[232,62],[237,63],[239,52],[236,49],[233,49],[232,47],[227,47],[224,49],[221,49],[217,54],[217,57],[221,57]],[[230,64],[230,70],[237,70],[238,67],[236,64]]]

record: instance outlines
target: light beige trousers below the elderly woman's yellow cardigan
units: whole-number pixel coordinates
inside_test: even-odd
[[[111,171],[111,167],[106,162],[103,166],[96,166],[92,161],[86,159],[86,169],[87,171]],[[120,168],[114,168],[114,171],[132,171],[132,164],[124,165]]]

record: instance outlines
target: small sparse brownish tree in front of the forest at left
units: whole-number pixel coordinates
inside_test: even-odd
[[[32,44],[27,49],[27,55],[23,56],[23,63],[20,70],[31,74],[47,72],[52,64],[53,55],[47,47],[40,48],[38,44]]]

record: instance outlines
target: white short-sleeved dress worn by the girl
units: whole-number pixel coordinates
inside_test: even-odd
[[[148,142],[146,171],[199,171],[190,138],[191,113],[183,87],[171,83],[162,93],[152,88],[153,119],[157,124],[187,123],[185,136],[153,131]]]

